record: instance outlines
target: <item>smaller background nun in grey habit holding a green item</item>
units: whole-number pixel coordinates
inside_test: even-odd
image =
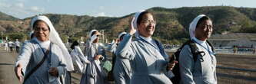
[[[88,34],[85,44],[85,56],[88,63],[85,73],[81,76],[80,84],[106,84],[107,73],[101,67],[101,60],[106,57],[104,47],[98,43],[101,34],[97,30],[92,30]]]

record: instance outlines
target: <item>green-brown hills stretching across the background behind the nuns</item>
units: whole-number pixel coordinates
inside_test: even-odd
[[[171,40],[178,44],[188,38],[188,25],[200,14],[208,15],[214,23],[214,34],[230,33],[256,33],[256,8],[235,8],[229,6],[183,7],[183,8],[149,8],[156,18],[157,25],[153,37],[166,43]],[[121,31],[128,31],[131,16],[120,18],[91,17],[88,15],[58,15],[46,14],[54,23],[56,30],[65,36],[86,36],[91,29],[105,31],[108,40],[117,37]],[[0,14],[2,16],[2,14]],[[6,15],[4,15],[6,16]],[[8,16],[8,15],[7,15]],[[1,17],[0,17],[1,18]],[[31,18],[22,20],[13,17],[0,19],[0,31],[5,33],[28,33]]]

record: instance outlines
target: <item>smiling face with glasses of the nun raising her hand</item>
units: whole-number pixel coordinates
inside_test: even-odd
[[[155,31],[155,20],[153,15],[145,14],[142,16],[141,23],[138,24],[138,33],[143,37],[151,37]]]

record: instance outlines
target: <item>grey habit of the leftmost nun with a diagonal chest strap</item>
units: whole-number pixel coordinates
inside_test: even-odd
[[[62,55],[62,50],[58,45],[51,44],[50,53],[48,54],[42,66],[28,78],[25,84],[61,84],[59,77],[66,72],[65,60]],[[46,49],[43,49],[46,50]],[[32,70],[44,57],[44,53],[37,44],[36,38],[25,42],[22,46],[22,51],[18,55],[17,63],[26,66],[25,76]],[[58,68],[58,77],[51,76],[48,72],[50,67]]]

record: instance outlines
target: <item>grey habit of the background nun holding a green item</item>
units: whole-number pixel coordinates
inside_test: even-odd
[[[92,43],[93,40],[89,39],[85,45],[85,56],[88,57],[90,63],[86,67],[85,73],[81,76],[80,84],[105,84],[106,73],[101,68],[100,60],[95,60],[96,55],[105,55],[105,49],[100,44]]]

